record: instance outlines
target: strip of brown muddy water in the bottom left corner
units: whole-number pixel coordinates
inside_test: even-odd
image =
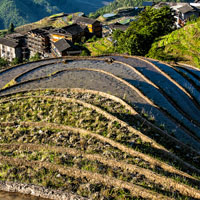
[[[47,200],[41,197],[34,197],[30,195],[24,195],[15,192],[3,192],[0,191],[0,200]]]

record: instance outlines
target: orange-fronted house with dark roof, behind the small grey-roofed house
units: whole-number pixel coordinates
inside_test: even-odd
[[[53,29],[50,31],[51,42],[57,42],[61,39],[70,40],[71,42],[80,42],[81,38],[85,36],[84,30],[78,24],[72,24],[60,29]]]

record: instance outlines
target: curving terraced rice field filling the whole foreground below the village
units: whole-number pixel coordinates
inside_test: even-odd
[[[49,199],[200,199],[198,113],[185,114],[155,80],[163,77],[183,106],[199,112],[197,102],[171,74],[151,78],[147,69],[158,70],[118,55],[0,72],[0,190]]]

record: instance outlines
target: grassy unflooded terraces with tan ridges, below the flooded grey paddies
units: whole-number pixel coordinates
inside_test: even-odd
[[[89,199],[198,195],[198,177],[184,173],[185,165],[136,131],[156,134],[131,112],[115,97],[77,89],[1,98],[0,180]]]

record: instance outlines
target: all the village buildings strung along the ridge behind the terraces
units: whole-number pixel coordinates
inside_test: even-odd
[[[185,25],[191,16],[200,16],[200,0],[194,3],[176,3],[176,2],[143,2],[143,6],[152,6],[159,9],[163,6],[169,6],[174,10],[176,18],[176,26]],[[123,9],[120,16],[133,16],[138,12],[138,8]],[[119,15],[119,13],[118,13]],[[106,14],[105,17],[116,17],[114,14]],[[91,18],[81,16],[73,16],[73,24],[63,28],[37,28],[23,33],[13,33],[0,38],[0,57],[13,61],[26,60],[39,53],[41,58],[61,57],[66,55],[80,55],[81,49],[76,43],[82,42],[93,36],[107,37],[112,34],[113,30],[120,29],[125,31],[128,24],[115,22],[114,24],[104,25]],[[109,37],[108,37],[109,38]]]

